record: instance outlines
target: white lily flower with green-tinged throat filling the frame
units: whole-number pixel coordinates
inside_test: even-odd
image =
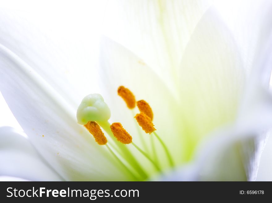
[[[236,26],[244,22],[230,20],[226,24],[226,19],[221,20],[208,1],[134,3],[110,6],[113,13],[105,17],[105,27],[119,43],[102,37],[97,80],[97,69],[88,70],[86,65],[77,65],[74,77],[70,77],[66,68],[74,64],[70,65],[62,55],[56,57],[59,50],[49,46],[48,41],[45,45],[38,43],[45,40],[42,35],[21,30],[22,22],[10,19],[7,23],[2,19],[1,23],[16,26],[1,28],[0,90],[28,139],[16,138],[22,133],[1,128],[4,144],[0,160],[5,161],[5,167],[0,167],[0,175],[27,180],[256,178],[259,156],[272,121],[272,100],[265,89],[272,62],[272,40],[267,29],[272,24],[266,20],[271,19],[269,12],[257,16],[252,33],[243,35],[250,41],[244,42],[236,41],[244,34],[243,27],[239,30]],[[262,3],[271,8],[271,2]],[[125,13],[120,11],[117,15],[115,6]],[[251,9],[260,12],[259,7]],[[114,31],[109,25],[113,25]],[[122,32],[123,26],[127,32]],[[29,36],[36,38],[31,40]],[[254,50],[249,52],[248,47]],[[256,50],[258,53],[254,53]],[[79,51],[83,61],[88,57],[84,51]],[[75,71],[74,67],[69,70]],[[113,147],[117,160],[77,123],[80,100],[95,93],[92,84],[102,89],[99,93],[111,112],[109,121],[121,122],[133,142],[152,160],[154,154],[159,157],[155,163],[160,173],[132,145],[117,145],[127,155]],[[170,151],[174,166],[169,164],[164,147],[154,135],[139,131],[135,125],[136,111],[132,114],[117,95],[121,85],[129,87],[137,100],[150,104],[156,132]],[[107,118],[108,112],[102,117]],[[114,146],[109,126],[101,127],[110,146]],[[11,138],[22,139],[21,144],[11,142]],[[14,161],[3,160],[9,156]]]

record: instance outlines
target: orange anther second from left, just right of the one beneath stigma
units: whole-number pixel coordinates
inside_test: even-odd
[[[113,123],[110,128],[117,141],[123,144],[130,144],[132,142],[131,135],[123,128],[121,123]]]

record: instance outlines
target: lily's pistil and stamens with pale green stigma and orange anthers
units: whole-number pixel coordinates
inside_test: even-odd
[[[129,109],[133,110],[137,104],[140,113],[136,115],[134,114],[134,118],[145,133],[152,133],[151,136],[155,136],[158,139],[165,151],[166,157],[168,158],[169,165],[173,167],[174,163],[168,148],[160,139],[159,135],[155,133],[156,129],[152,123],[153,111],[150,105],[145,100],[139,100],[136,102],[134,94],[124,86],[120,86],[117,93],[125,101]],[[135,149],[153,165],[156,171],[162,172],[161,166],[159,166],[159,162],[156,157],[154,143],[152,143],[151,146],[153,154],[149,154],[132,141],[132,136],[123,128],[121,123],[110,124],[108,122],[109,118],[110,110],[108,105],[99,94],[90,94],[84,97],[77,110],[78,123],[84,125],[99,145],[105,145],[109,152],[120,163],[121,167],[123,167],[135,180],[145,180],[148,176],[146,171],[141,167],[141,164],[138,163],[138,160],[135,159],[134,155],[125,146],[128,144],[134,146]],[[108,140],[100,126],[113,139],[113,143],[108,143]]]

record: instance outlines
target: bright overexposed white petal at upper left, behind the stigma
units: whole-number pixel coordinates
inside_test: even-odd
[[[85,95],[99,92],[96,64],[104,4],[102,0],[2,5],[0,43],[77,108]]]

